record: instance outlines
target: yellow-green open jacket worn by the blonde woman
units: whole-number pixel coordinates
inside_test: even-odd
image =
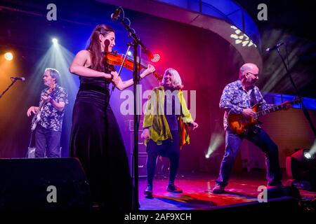
[[[181,130],[180,143],[181,146],[183,146],[185,143],[190,144],[187,123],[192,123],[193,120],[190,111],[187,109],[183,92],[178,90],[177,95],[181,109],[181,114],[178,116]],[[157,144],[161,144],[161,141],[166,139],[172,139],[169,125],[164,116],[164,97],[164,86],[155,87],[154,90],[152,90],[147,102],[143,120],[143,128],[149,128],[150,139],[157,142]],[[148,139],[145,140],[145,145],[147,145],[147,141]]]

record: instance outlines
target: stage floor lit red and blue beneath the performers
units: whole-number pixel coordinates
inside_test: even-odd
[[[169,193],[166,191],[167,176],[157,176],[154,179],[152,197],[144,195],[147,179],[139,179],[140,210],[209,210],[220,207],[238,206],[245,203],[258,203],[258,186],[265,186],[263,172],[251,172],[239,176],[232,176],[225,193],[216,195],[211,193],[215,185],[216,176],[211,174],[179,175],[176,186],[182,188],[183,193]],[[287,179],[284,178],[284,184]],[[316,198],[315,192],[299,190],[303,200]]]

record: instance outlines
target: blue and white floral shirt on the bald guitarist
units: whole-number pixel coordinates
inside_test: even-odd
[[[224,109],[224,128],[228,127],[227,116],[228,113],[242,113],[243,109],[251,108],[254,104],[259,104],[259,110],[265,110],[274,106],[273,104],[267,104],[263,96],[254,85],[248,92],[242,88],[242,82],[237,80],[229,83],[223,90],[222,97],[220,97],[220,109]]]

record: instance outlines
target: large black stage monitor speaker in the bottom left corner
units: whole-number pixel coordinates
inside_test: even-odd
[[[0,159],[0,211],[78,211],[90,207],[76,158]]]

